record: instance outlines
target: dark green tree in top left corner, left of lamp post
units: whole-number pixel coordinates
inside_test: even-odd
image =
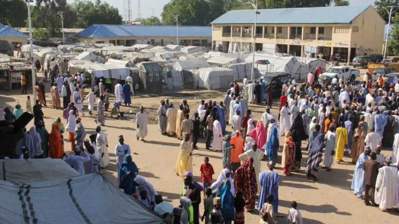
[[[0,0],[0,23],[11,27],[24,27],[28,6],[24,0]]]

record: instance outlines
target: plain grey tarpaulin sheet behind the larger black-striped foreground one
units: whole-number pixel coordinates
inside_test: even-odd
[[[0,170],[3,173],[2,163],[5,163],[7,181],[15,183],[53,181],[79,176],[62,159],[0,159]]]

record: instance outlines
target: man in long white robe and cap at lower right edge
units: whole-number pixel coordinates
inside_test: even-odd
[[[390,166],[392,158],[385,158],[385,166],[379,168],[377,182],[375,183],[375,203],[379,204],[379,209],[386,212],[387,209],[399,205],[398,195],[398,168]]]

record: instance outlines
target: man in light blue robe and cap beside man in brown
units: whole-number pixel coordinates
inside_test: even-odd
[[[359,155],[359,159],[356,163],[355,171],[353,173],[351,189],[354,190],[354,194],[357,195],[358,198],[363,198],[363,191],[365,188],[364,162],[368,159],[370,152],[370,147],[364,147],[364,152]]]

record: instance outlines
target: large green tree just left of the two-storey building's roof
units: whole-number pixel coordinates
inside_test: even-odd
[[[165,25],[206,26],[209,24],[209,4],[205,0],[171,0],[161,14]]]

